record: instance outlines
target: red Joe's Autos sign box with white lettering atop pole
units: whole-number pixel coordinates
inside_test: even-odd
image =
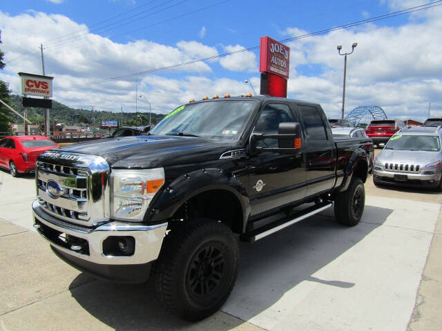
[[[260,72],[289,79],[289,62],[290,48],[270,37],[261,37]]]

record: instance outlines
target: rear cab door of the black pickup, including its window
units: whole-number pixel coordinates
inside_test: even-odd
[[[307,196],[311,196],[333,188],[336,179],[336,148],[323,110],[318,106],[304,104],[297,104],[296,108],[306,134]]]

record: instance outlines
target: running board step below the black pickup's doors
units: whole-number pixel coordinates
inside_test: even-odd
[[[283,228],[287,228],[287,226],[290,226],[294,223],[297,223],[299,221],[302,221],[303,219],[307,219],[307,217],[311,217],[314,214],[318,214],[318,212],[322,212],[323,210],[326,210],[327,208],[332,207],[333,203],[327,202],[327,203],[320,203],[318,205],[313,205],[305,210],[301,210],[300,212],[297,212],[296,214],[285,217],[283,219],[280,219],[278,221],[274,221],[270,224],[267,224],[263,226],[262,228],[258,228],[256,230],[253,230],[251,232],[247,232],[241,235],[241,241],[247,241],[249,243],[253,243],[253,241],[260,240],[264,237],[267,237],[269,234],[275,233],[279,230],[282,230]]]

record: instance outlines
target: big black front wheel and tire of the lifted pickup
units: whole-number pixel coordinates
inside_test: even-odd
[[[229,297],[239,258],[238,237],[218,221],[172,227],[151,273],[158,301],[186,321],[209,317]]]

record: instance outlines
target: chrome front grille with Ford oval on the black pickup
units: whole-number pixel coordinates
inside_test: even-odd
[[[108,164],[102,157],[54,150],[36,165],[37,200],[54,217],[93,226],[108,219]]]

